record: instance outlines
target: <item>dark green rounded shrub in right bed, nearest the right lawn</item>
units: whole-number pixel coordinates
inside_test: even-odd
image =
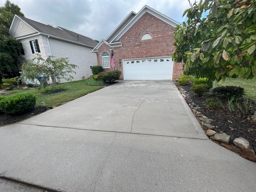
[[[242,98],[244,95],[244,88],[237,86],[221,86],[212,89],[212,95],[221,99],[235,99]]]

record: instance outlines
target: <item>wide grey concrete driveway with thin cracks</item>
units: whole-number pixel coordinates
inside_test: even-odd
[[[2,127],[0,150],[0,176],[26,191],[256,189],[256,164],[209,141],[171,81],[118,82]]]

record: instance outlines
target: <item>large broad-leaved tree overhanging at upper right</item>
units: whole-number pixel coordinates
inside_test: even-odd
[[[256,77],[255,1],[200,0],[190,7],[187,22],[176,27],[172,54],[184,62],[184,74],[217,81]]]

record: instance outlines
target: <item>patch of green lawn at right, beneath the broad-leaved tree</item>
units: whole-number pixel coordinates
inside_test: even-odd
[[[240,79],[240,78],[227,78],[225,81],[215,83],[218,86],[238,86],[244,88],[245,97],[256,101],[256,78],[253,79]]]

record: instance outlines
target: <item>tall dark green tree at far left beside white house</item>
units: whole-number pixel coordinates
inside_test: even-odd
[[[0,84],[3,77],[14,77],[18,73],[18,65],[22,62],[21,44],[11,37],[8,32],[14,15],[24,16],[18,5],[6,0],[4,6],[0,7]]]

